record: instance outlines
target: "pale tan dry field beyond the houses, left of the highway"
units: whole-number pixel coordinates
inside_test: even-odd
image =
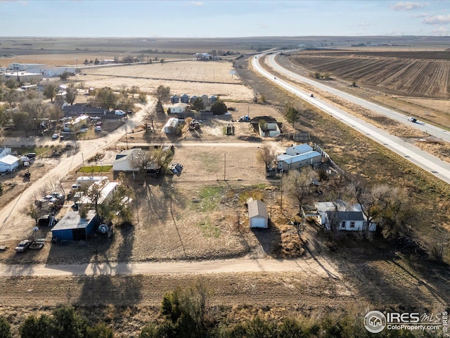
[[[151,93],[160,84],[169,86],[172,94],[216,95],[223,100],[248,101],[252,89],[231,75],[233,64],[229,61],[177,61],[145,65],[124,65],[108,68],[84,68],[85,76],[78,80],[85,87],[111,87],[121,90],[124,85],[136,85],[141,91]]]

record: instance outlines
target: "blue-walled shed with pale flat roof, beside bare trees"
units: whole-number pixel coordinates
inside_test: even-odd
[[[81,218],[78,211],[70,211],[53,227],[51,234],[56,242],[86,241],[98,225],[98,215],[94,210],[89,210],[86,218]]]

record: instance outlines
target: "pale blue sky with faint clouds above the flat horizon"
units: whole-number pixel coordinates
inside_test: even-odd
[[[2,37],[450,35],[449,1],[0,0]]]

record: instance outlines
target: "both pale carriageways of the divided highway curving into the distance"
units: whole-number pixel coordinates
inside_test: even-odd
[[[269,73],[267,70],[264,70],[262,66],[259,64],[259,56],[255,56],[255,58],[252,59],[252,66],[255,68],[255,70],[266,77],[267,79],[271,80],[271,82],[274,82],[280,87],[283,87],[284,89],[292,92],[293,94],[299,96],[304,101],[309,102],[312,106],[316,106],[317,108],[321,109],[321,111],[324,111],[326,113],[329,113],[333,117],[340,120],[342,123],[345,123],[346,125],[349,125],[350,127],[354,128],[354,130],[357,130],[361,132],[361,134],[365,134],[367,137],[370,137],[374,141],[383,144],[387,149],[390,149],[394,151],[395,153],[399,154],[400,156],[403,156],[411,163],[414,163],[418,165],[420,168],[423,168],[424,170],[427,170],[428,172],[432,173],[432,175],[435,175],[440,180],[443,180],[444,182],[450,184],[450,163],[447,163],[445,161],[441,161],[436,156],[432,156],[426,151],[422,151],[418,149],[418,147],[413,146],[412,144],[409,144],[408,142],[404,142],[403,139],[400,139],[399,137],[395,137],[384,130],[381,130],[378,127],[375,127],[371,125],[370,123],[365,122],[364,120],[361,120],[360,118],[356,118],[354,115],[347,113],[346,111],[343,111],[340,108],[337,108],[333,106],[332,104],[329,104],[326,101],[323,101],[317,97],[311,97],[309,96],[309,93],[305,92],[302,89],[299,89],[294,84],[291,84],[290,82],[287,82],[285,80],[281,80],[276,77],[276,75],[273,75]],[[300,75],[296,75],[295,73],[289,72],[288,70],[285,70],[284,68],[281,68],[280,65],[277,63],[274,63],[274,55],[269,55],[269,64],[274,65],[276,67],[276,70],[279,73],[283,73],[287,75],[288,77],[295,77],[297,80],[307,82],[308,84],[318,87],[319,84],[316,82],[307,79],[306,77],[301,77]],[[328,92],[332,92],[333,94],[337,96],[341,96],[342,99],[346,99],[347,101],[354,102],[355,104],[361,104],[365,100],[361,100],[359,98],[356,98],[356,96],[349,95],[344,92],[340,92],[336,89],[331,89],[327,86],[324,86],[323,84],[320,84],[320,89],[326,90]],[[378,105],[371,104],[368,101],[365,101],[368,108],[370,105],[373,105],[373,107],[377,106],[380,108],[383,108]],[[362,104],[361,104],[362,105]],[[376,108],[376,107],[375,107]],[[374,108],[370,108],[372,110],[375,110]],[[383,108],[386,109],[386,108]],[[386,109],[387,111],[392,112],[392,114],[397,114],[397,118],[401,116],[403,120],[406,120],[406,117],[400,113],[391,111]],[[390,115],[390,117],[392,117]],[[419,123],[411,123],[413,125],[418,125],[418,127],[428,127],[428,133],[433,133],[435,136],[440,137],[439,133],[442,133],[444,137],[449,138],[449,134],[445,132],[444,130],[441,130],[437,127],[433,127],[430,125],[419,125]],[[425,130],[424,130],[425,131]],[[445,139],[445,138],[443,138]],[[450,139],[450,138],[449,138]]]

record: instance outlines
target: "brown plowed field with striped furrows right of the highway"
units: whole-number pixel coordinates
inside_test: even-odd
[[[441,54],[442,58],[437,59],[420,52],[389,52],[385,56],[383,53],[302,52],[290,59],[308,70],[322,75],[330,73],[331,77],[356,81],[356,84],[382,92],[446,98],[450,91],[450,53]]]

